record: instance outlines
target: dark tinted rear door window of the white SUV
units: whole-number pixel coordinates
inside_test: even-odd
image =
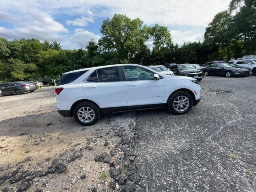
[[[108,67],[97,69],[98,82],[116,82],[120,81],[117,67]]]

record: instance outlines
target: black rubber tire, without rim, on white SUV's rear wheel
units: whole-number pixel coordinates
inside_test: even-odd
[[[89,107],[93,110],[94,112],[94,118],[92,121],[90,122],[83,122],[81,121],[79,118],[78,118],[78,110],[80,110],[80,108],[82,107]],[[98,121],[98,119],[100,118],[100,109],[98,108],[98,106],[92,102],[88,102],[88,101],[85,101],[85,102],[81,102],[79,103],[75,108],[74,108],[74,112],[73,112],[73,115],[74,115],[74,119],[81,125],[84,125],[84,126],[89,126],[89,125],[92,125],[94,124],[96,121]]]

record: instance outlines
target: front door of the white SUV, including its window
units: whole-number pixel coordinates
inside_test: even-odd
[[[164,100],[164,83],[162,79],[154,80],[154,72],[137,66],[123,66],[126,80],[124,82],[129,106],[162,104]]]

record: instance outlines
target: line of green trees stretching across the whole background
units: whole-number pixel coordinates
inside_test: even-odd
[[[120,63],[156,65],[205,63],[256,54],[256,0],[232,0],[216,14],[204,42],[172,42],[166,26],[146,26],[140,18],[115,14],[102,22],[102,37],[80,49],[64,50],[54,41],[0,38],[0,81],[60,78],[63,72]],[[152,48],[146,41],[152,40]]]

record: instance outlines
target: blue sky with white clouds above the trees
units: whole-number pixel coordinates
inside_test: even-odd
[[[204,40],[215,14],[230,0],[1,0],[0,37],[57,40],[63,48],[85,46],[101,37],[100,26],[115,13],[139,17],[144,24],[168,27],[174,43]],[[152,40],[146,42],[152,46]]]

